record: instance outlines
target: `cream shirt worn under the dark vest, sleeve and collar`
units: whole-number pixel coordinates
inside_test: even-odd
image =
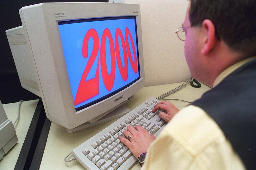
[[[255,58],[227,68],[214,81],[214,87]],[[243,170],[245,167],[216,122],[203,109],[189,105],[173,117],[148,149],[141,170],[158,169]]]

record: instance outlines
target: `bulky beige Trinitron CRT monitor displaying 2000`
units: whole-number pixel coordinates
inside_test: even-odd
[[[41,3],[19,13],[9,45],[50,121],[75,132],[129,111],[123,104],[145,83],[139,5]]]

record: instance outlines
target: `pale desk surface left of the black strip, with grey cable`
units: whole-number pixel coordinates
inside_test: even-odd
[[[14,169],[18,157],[20,155],[20,150],[24,143],[25,137],[27,135],[31,120],[34,116],[35,109],[37,107],[38,100],[23,101],[20,106],[20,118],[14,125],[16,134],[18,137],[18,143],[16,143],[13,148],[6,154],[0,161],[0,169],[12,170]],[[15,121],[17,117],[18,103],[8,103],[3,104],[4,111],[12,122]]]

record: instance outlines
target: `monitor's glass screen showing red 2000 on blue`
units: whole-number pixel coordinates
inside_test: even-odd
[[[140,79],[136,17],[58,24],[76,111]]]

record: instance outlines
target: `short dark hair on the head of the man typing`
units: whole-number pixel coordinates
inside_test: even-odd
[[[256,0],[190,0],[191,26],[214,23],[216,35],[236,51],[256,55]]]

